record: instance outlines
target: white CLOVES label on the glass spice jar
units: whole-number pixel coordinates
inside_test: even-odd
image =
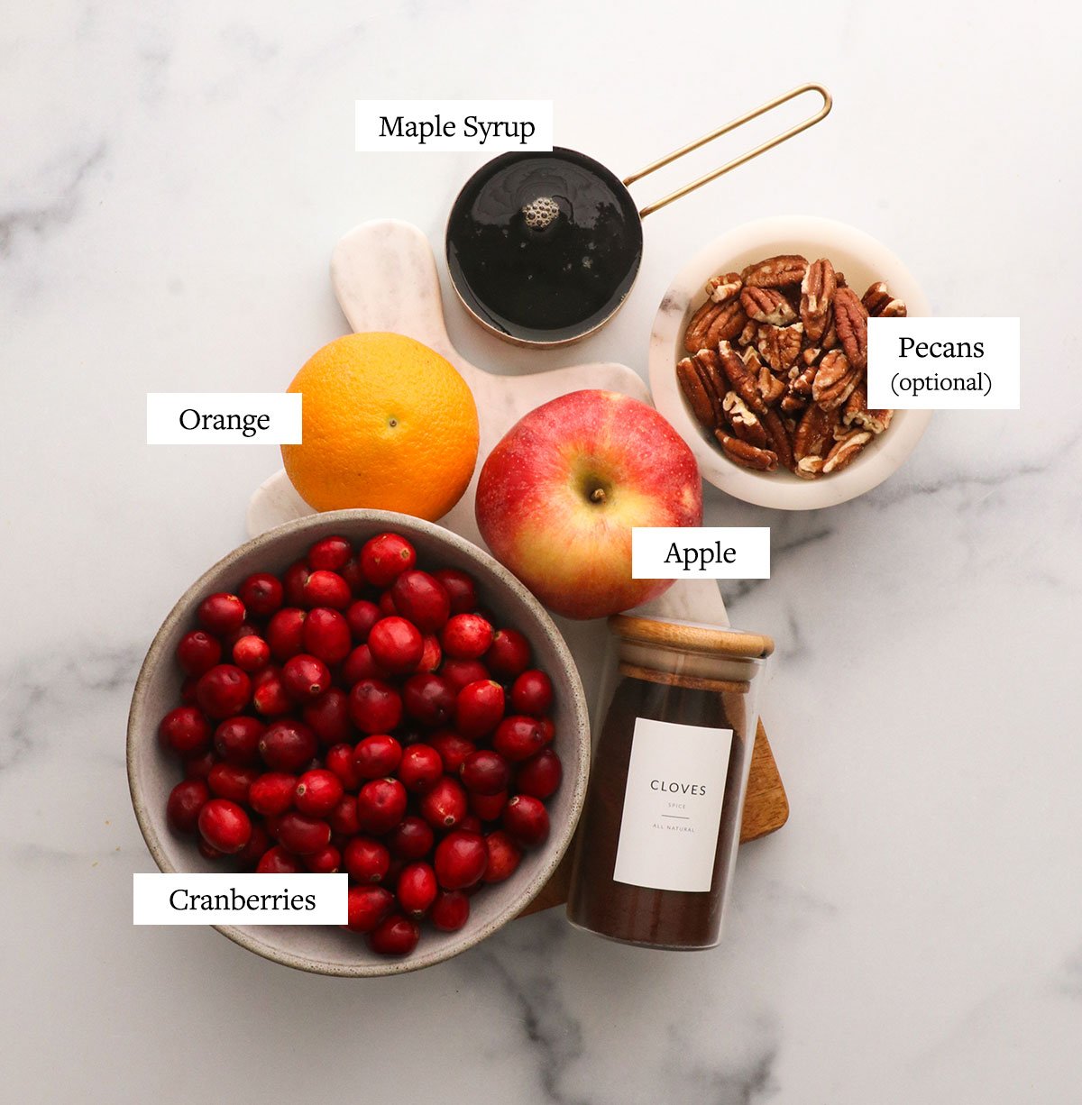
[[[732,729],[635,719],[616,882],[710,890],[732,747]]]

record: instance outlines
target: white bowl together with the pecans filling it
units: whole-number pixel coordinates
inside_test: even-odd
[[[802,215],[746,223],[665,293],[650,339],[654,403],[729,495],[834,506],[897,471],[931,419],[869,410],[868,319],[928,313],[870,234]]]

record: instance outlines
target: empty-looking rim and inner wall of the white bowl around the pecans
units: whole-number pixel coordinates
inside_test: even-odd
[[[753,261],[779,253],[800,253],[809,261],[829,257],[858,295],[874,281],[885,280],[892,294],[905,301],[910,315],[929,314],[927,299],[908,269],[871,234],[809,215],[759,219],[715,239],[673,281],[650,337],[650,388],[658,410],[694,452],[704,480],[745,503],[812,511],[855,498],[896,472],[920,441],[932,412],[896,411],[890,428],[848,467],[820,480],[800,480],[787,471],[753,472],[723,455],[692,414],[676,381],[676,361],[686,356],[684,329],[706,301],[704,285],[711,276],[739,272]]]

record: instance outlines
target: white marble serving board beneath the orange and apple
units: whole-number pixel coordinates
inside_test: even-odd
[[[440,523],[482,547],[473,511],[477,476],[490,451],[518,419],[550,399],[581,388],[620,391],[650,402],[647,385],[626,365],[575,365],[531,376],[495,376],[471,365],[448,337],[435,257],[428,239],[411,223],[381,219],[351,230],[335,248],[330,280],[354,330],[390,330],[416,338],[454,365],[473,390],[481,420],[477,467],[465,495]],[[248,533],[255,537],[313,513],[280,470],[252,495]],[[712,580],[677,580],[641,610],[728,624],[725,604]],[[602,622],[559,619],[559,623],[577,660],[598,654],[603,645]]]

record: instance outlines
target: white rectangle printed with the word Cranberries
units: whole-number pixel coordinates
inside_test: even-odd
[[[136,874],[135,925],[345,925],[349,876]]]

